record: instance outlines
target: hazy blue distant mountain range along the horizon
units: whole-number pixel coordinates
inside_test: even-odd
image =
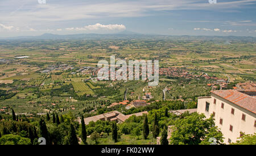
[[[168,40],[208,40],[208,41],[256,41],[256,37],[246,36],[169,36],[169,35],[145,35],[142,33],[122,31],[118,33],[98,34],[81,33],[73,35],[55,35],[44,33],[40,36],[18,36],[0,38],[0,41],[7,40],[99,40],[99,39],[168,39]]]

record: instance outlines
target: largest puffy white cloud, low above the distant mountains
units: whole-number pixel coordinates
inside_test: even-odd
[[[94,24],[94,25],[89,25],[89,26],[85,26],[85,27],[81,27],[81,28],[65,28],[68,31],[97,31],[97,30],[125,30],[126,27],[123,24],[108,24],[108,25],[104,25],[104,24]]]

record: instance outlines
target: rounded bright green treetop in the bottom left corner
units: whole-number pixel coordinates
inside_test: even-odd
[[[20,137],[14,134],[6,134],[0,138],[0,145],[30,145],[29,138]]]

